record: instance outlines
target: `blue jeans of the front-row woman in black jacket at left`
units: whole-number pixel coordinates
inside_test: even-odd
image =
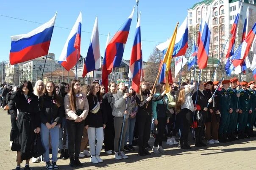
[[[49,135],[51,137],[51,145],[52,145],[52,161],[57,162],[58,158],[58,134],[59,127],[55,126],[53,129],[48,129],[47,126],[41,123],[41,140],[42,145],[45,148],[45,153],[43,154],[43,159],[45,162],[50,161],[49,156]]]

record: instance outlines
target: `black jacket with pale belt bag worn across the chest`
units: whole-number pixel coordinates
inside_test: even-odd
[[[88,104],[89,104],[89,112],[88,115],[85,119],[85,126],[89,125],[89,127],[103,127],[103,124],[106,125],[106,114],[104,114],[103,110],[103,104],[102,104],[102,99],[101,96],[94,96],[93,94],[89,94],[87,96],[88,99]],[[92,110],[97,102],[100,102],[100,109],[97,113],[92,113],[90,110]]]

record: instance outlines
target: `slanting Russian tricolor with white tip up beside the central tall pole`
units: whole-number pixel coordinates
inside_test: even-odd
[[[135,7],[134,7],[135,8]],[[106,68],[110,70],[119,67],[122,61],[122,55],[125,49],[125,43],[130,31],[131,20],[134,15],[134,8],[126,22],[117,31],[106,48]]]

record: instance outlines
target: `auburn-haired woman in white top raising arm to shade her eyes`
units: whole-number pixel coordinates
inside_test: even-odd
[[[178,125],[181,130],[180,143],[178,148],[190,149],[188,142],[189,128],[192,123],[192,116],[196,107],[194,107],[190,93],[194,90],[195,85],[187,85],[186,82],[181,84],[178,91],[177,101],[175,105],[175,113],[179,114],[180,124]]]

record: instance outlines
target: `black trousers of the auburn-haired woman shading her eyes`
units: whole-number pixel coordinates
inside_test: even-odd
[[[179,128],[181,130],[181,140],[188,140],[189,128],[192,122],[193,112],[189,109],[182,109],[179,114]]]

